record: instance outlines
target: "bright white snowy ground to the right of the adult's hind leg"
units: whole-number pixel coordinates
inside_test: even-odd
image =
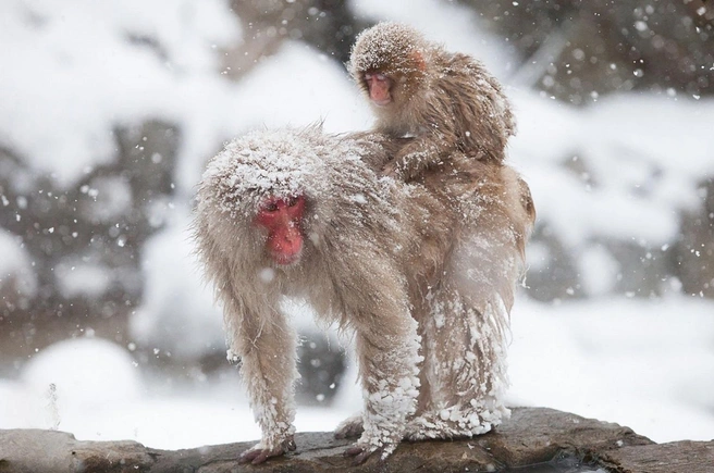
[[[512,404],[617,422],[655,441],[714,438],[714,302],[518,300]]]

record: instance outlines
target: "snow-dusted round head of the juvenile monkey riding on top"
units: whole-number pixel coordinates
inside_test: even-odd
[[[379,23],[357,37],[348,69],[373,105],[403,107],[426,86],[427,49],[416,29]]]

